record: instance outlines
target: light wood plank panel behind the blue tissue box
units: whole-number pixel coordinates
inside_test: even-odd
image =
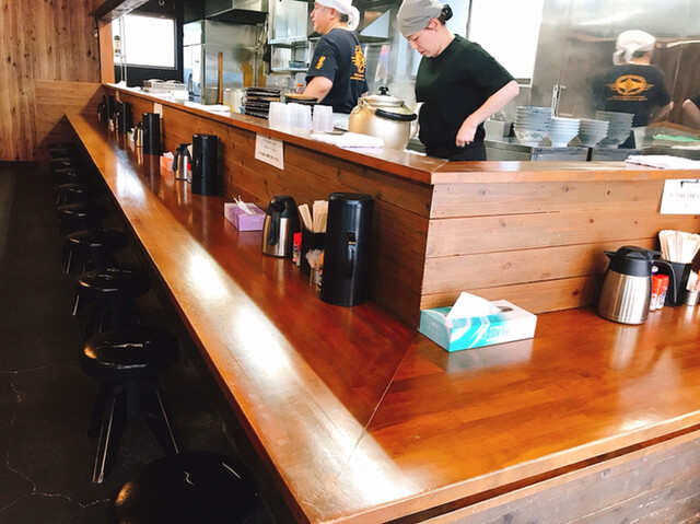
[[[595,302],[605,249],[658,248],[663,229],[700,217],[660,214],[663,179],[434,186],[421,308],[460,291],[533,313]]]

